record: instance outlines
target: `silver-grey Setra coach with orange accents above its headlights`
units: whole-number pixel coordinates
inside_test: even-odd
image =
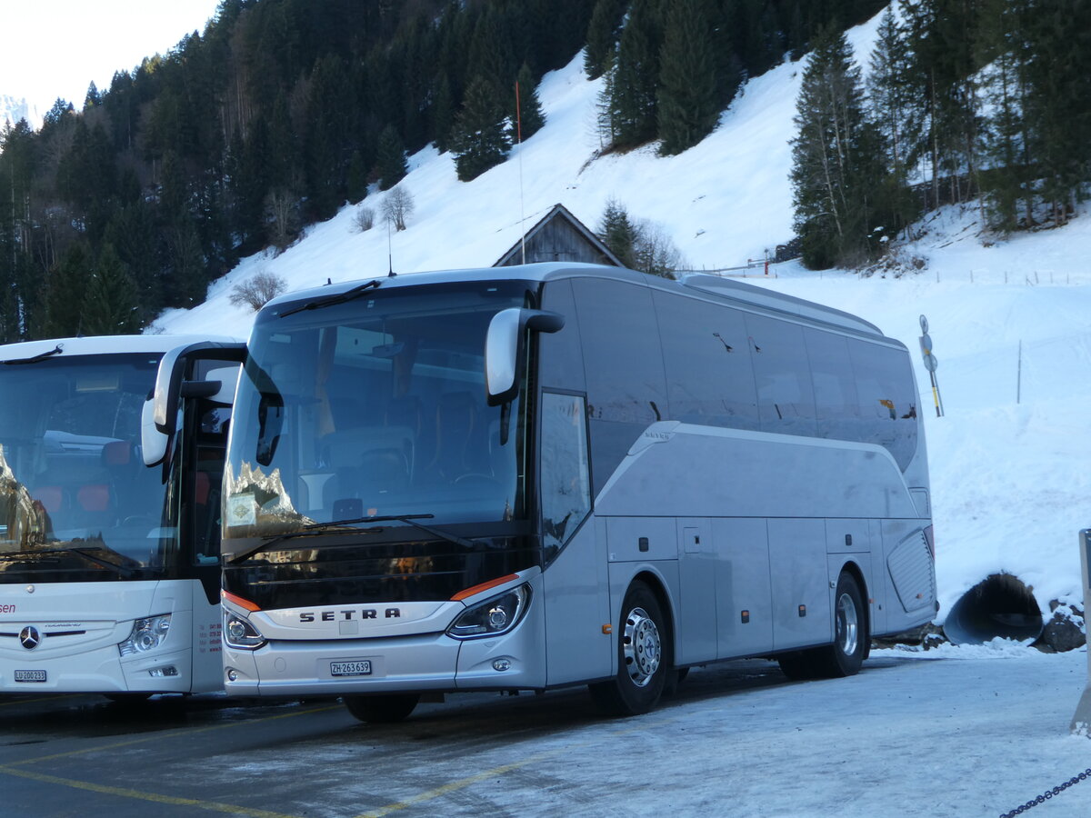
[[[284,296],[228,446],[229,695],[589,684],[652,708],[686,669],[855,673],[936,611],[903,345],[720,278],[542,264]]]

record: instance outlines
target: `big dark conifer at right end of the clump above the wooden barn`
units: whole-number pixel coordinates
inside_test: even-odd
[[[720,115],[712,12],[707,0],[675,0],[660,53],[659,152],[680,154],[711,133]]]

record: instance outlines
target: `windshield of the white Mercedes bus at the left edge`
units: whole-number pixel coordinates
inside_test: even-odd
[[[0,366],[0,582],[148,579],[177,560],[140,455],[160,353]]]

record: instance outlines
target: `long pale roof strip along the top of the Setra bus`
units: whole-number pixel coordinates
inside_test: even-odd
[[[509,267],[480,267],[471,269],[447,269],[428,273],[410,273],[397,276],[382,276],[376,280],[383,289],[392,287],[419,287],[431,284],[451,284],[453,281],[511,281],[525,280],[541,282],[561,278],[609,278],[619,281],[630,281],[654,287],[668,292],[688,293],[690,296],[712,296],[716,300],[731,301],[739,305],[757,308],[802,318],[807,322],[819,322],[864,335],[883,336],[883,332],[863,318],[851,313],[836,310],[831,306],[806,301],[794,296],[775,292],[764,287],[743,284],[730,278],[694,273],[684,275],[679,280],[650,276],[624,267],[613,267],[601,264],[582,264],[571,262],[548,262],[539,264],[515,265]],[[338,296],[347,292],[367,279],[357,281],[340,281],[324,287],[286,293],[269,301],[263,310],[276,309],[280,305],[295,304],[300,301],[312,301]]]

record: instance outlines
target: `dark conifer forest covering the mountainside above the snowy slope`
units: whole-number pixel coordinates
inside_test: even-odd
[[[430,143],[476,178],[542,125],[535,87],[580,49],[603,153],[682,153],[748,77],[799,60],[808,266],[874,260],[945,203],[980,202],[1005,232],[1064,224],[1091,176],[1091,4],[886,7],[223,0],[166,55],[0,133],[0,342],[139,332],[200,303]],[[843,32],[880,11],[874,50],[852,53]]]

